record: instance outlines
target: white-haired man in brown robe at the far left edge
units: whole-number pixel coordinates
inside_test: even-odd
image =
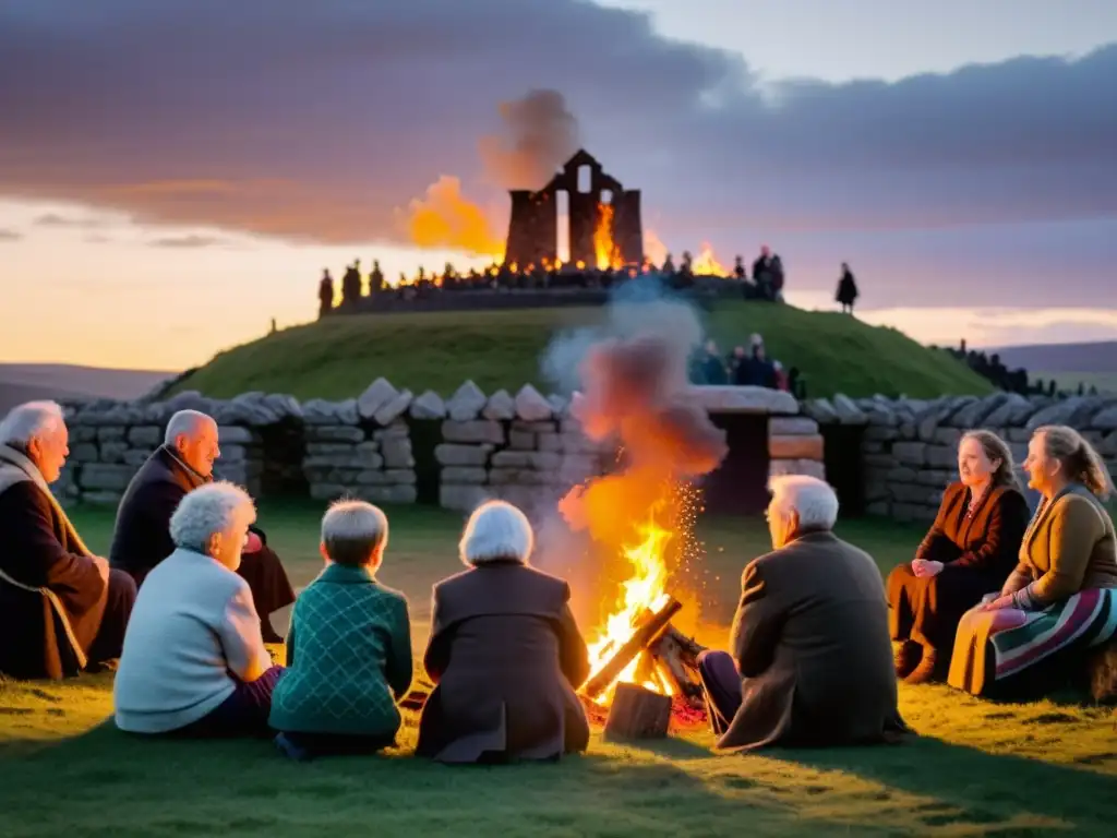
[[[0,672],[61,678],[121,653],[136,588],[89,552],[50,492],[69,455],[61,408],[0,422]]]

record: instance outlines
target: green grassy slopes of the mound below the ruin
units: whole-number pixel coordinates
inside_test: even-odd
[[[992,391],[947,353],[840,313],[727,302],[705,316],[708,335],[723,351],[747,344],[753,332],[763,334],[771,358],[805,375],[810,396]],[[467,379],[486,392],[515,391],[527,382],[546,392],[540,358],[552,336],[603,317],[602,308],[337,316],[222,352],[176,389],[214,398],[262,390],[343,399],[383,375],[416,393],[448,396]]]

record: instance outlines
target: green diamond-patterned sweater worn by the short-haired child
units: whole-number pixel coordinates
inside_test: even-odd
[[[400,726],[395,702],[411,675],[403,594],[365,568],[331,564],[295,601],[271,727],[390,737]]]

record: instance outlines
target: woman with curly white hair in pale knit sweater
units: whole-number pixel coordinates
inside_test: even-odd
[[[142,734],[269,735],[283,672],[237,574],[251,498],[231,483],[187,494],[171,516],[175,550],[144,580],[114,684],[116,725]]]

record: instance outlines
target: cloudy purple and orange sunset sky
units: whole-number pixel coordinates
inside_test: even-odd
[[[848,260],[927,342],[1114,339],[1115,85],[1113,0],[8,0],[0,361],[182,369],[323,267],[467,266],[409,207],[459,178],[503,238],[532,89],[676,255],[768,244],[823,308]]]

